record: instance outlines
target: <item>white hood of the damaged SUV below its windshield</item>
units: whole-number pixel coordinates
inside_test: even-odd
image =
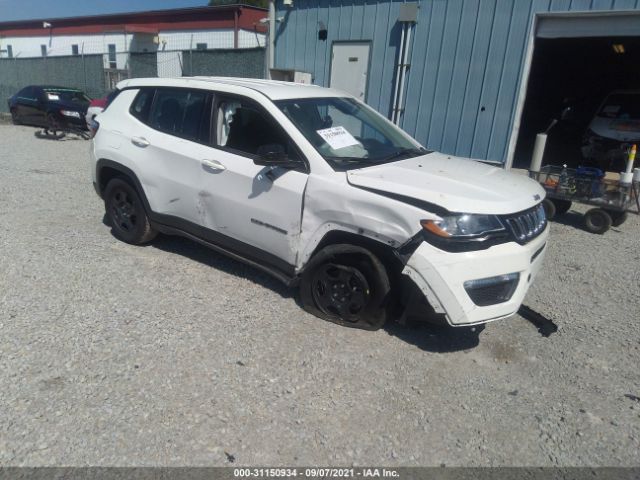
[[[433,152],[347,172],[351,185],[423,200],[450,212],[508,214],[544,198],[534,180],[475,160]]]

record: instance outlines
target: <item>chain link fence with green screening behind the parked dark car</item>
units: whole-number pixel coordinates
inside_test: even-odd
[[[0,56],[0,112],[7,112],[6,100],[28,85],[79,88],[100,98],[126,78],[264,78],[265,39],[257,32],[105,34],[83,42],[74,37],[28,41],[20,44],[14,39],[12,58],[6,53]],[[40,41],[46,43],[39,45]]]

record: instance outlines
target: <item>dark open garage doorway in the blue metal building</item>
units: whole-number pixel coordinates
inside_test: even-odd
[[[609,32],[615,30],[609,29]],[[631,95],[624,97],[624,102],[640,104],[640,32],[638,36],[537,38],[514,167],[528,168],[536,134],[543,132],[552,119],[560,118],[563,109],[570,107],[566,119],[560,120],[549,133],[543,165],[599,164],[606,170],[620,171],[621,160],[613,161],[611,157],[611,161],[603,165],[582,147],[583,142],[588,144],[589,136],[585,133],[596,112],[601,114],[599,107],[603,100],[611,92],[621,90],[636,90],[639,100]],[[625,137],[627,140],[633,138],[634,130],[638,132],[636,137],[640,137],[640,118],[632,125],[623,121],[627,113],[623,115],[620,110],[618,117],[622,119],[616,118],[614,110],[615,105],[606,112],[606,121],[609,124],[617,121],[621,129],[628,130],[630,137]],[[616,149],[622,148],[620,143],[615,144]]]

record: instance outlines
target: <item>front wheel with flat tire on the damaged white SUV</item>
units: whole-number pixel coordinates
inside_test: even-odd
[[[377,330],[390,316],[391,286],[380,260],[355,245],[338,244],[316,253],[300,283],[306,311],[345,327]]]

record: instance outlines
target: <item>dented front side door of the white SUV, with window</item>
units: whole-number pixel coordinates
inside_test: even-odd
[[[203,159],[199,195],[203,226],[295,265],[306,173],[256,165],[259,145],[288,138],[257,104],[220,97],[215,115],[219,148]]]

